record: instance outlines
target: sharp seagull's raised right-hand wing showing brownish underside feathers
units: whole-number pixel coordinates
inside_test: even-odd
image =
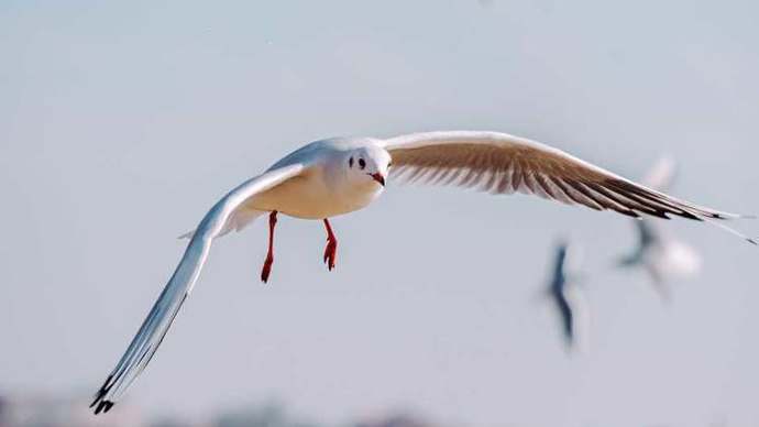
[[[497,132],[413,133],[381,141],[392,173],[416,182],[475,187],[494,194],[535,194],[595,210],[639,218],[671,215],[710,221],[740,218],[636,184],[539,142]]]

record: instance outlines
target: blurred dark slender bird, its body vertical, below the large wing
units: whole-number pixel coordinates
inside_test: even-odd
[[[575,252],[575,253],[572,253]],[[576,343],[578,335],[586,338],[587,304],[580,289],[580,276],[576,270],[576,251],[571,250],[566,242],[560,242],[556,248],[553,270],[546,289],[553,303],[561,331],[568,348]]]

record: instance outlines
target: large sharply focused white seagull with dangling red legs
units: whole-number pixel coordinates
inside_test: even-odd
[[[333,138],[304,145],[216,202],[174,274],[90,407],[108,412],[142,373],[193,291],[216,238],[268,215],[268,251],[261,280],[274,263],[277,215],[321,220],[323,260],[336,265],[338,239],[330,218],[363,209],[385,189],[388,173],[403,182],[475,187],[493,194],[534,194],[628,217],[682,217],[719,223],[740,218],[635,184],[560,150],[498,132],[442,131],[389,139]],[[724,227],[756,244],[756,241]]]

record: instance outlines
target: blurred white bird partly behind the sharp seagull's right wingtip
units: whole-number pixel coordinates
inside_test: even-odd
[[[674,162],[661,158],[644,183],[649,188],[664,191],[672,186],[674,176]],[[696,275],[701,270],[701,256],[695,249],[673,238],[658,223],[639,219],[635,221],[635,226],[638,245],[632,253],[620,260],[619,265],[644,269],[659,296],[666,302],[671,300],[669,282]]]

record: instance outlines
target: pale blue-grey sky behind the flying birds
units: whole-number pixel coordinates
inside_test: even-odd
[[[759,6],[748,1],[3,1],[0,393],[92,394],[227,190],[334,135],[493,130],[759,214]],[[461,426],[759,421],[759,252],[701,223],[662,304],[627,218],[398,186],[334,218],[215,245],[128,401],[194,416],[282,399],[340,423],[408,408]],[[759,234],[756,222],[736,226]],[[586,352],[538,295],[583,247]],[[118,407],[114,409],[118,410]]]

